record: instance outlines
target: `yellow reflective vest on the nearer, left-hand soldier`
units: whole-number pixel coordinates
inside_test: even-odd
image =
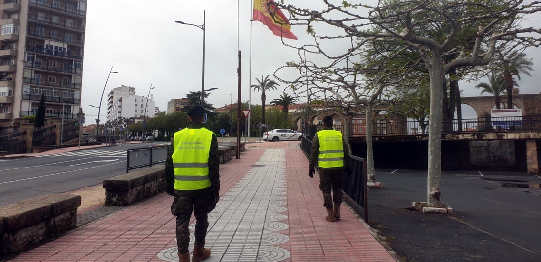
[[[185,128],[175,133],[173,170],[175,189],[181,191],[206,189],[210,186],[208,158],[213,132]]]

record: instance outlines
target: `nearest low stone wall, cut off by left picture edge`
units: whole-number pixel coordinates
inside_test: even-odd
[[[81,196],[48,194],[0,206],[0,253],[27,250],[43,239],[75,229]]]

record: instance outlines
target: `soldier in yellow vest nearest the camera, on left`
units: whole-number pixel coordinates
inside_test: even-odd
[[[204,248],[207,234],[207,214],[220,200],[220,159],[216,135],[202,127],[205,110],[195,106],[188,112],[192,122],[175,133],[166,162],[167,193],[174,196],[171,213],[176,216],[176,243],[179,261],[190,262],[188,224],[195,214],[195,248],[192,262],[210,256]]]

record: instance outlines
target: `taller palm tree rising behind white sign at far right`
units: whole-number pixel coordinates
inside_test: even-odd
[[[526,58],[526,53],[513,51],[507,58],[503,59],[503,77],[505,79],[505,89],[507,90],[507,108],[513,108],[513,86],[517,85],[513,81],[513,76],[520,80],[520,73],[531,76],[533,71],[532,59]],[[518,93],[517,93],[518,94]]]

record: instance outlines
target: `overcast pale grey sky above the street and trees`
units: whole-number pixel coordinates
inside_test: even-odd
[[[88,119],[95,119],[105,79],[111,65],[119,73],[111,75],[102,103],[101,119],[107,114],[107,93],[121,85],[135,87],[137,95],[147,96],[151,91],[160,110],[167,110],[167,101],[183,98],[188,91],[201,90],[201,61],[203,31],[194,26],[176,24],[183,21],[202,24],[203,10],[207,11],[206,77],[205,87],[219,88],[211,92],[209,102],[216,108],[237,100],[237,51],[242,51],[242,100],[248,100],[248,61],[250,32],[250,0],[240,0],[240,42],[237,38],[237,1],[142,1],[91,0],[88,1],[87,30],[85,35],[83,71],[83,107]],[[286,1],[292,2],[292,0]],[[317,8],[321,1],[296,0],[304,6]],[[371,1],[367,1],[370,4]],[[533,19],[539,27],[541,19]],[[285,42],[301,45],[312,38],[306,28],[293,27],[299,41]],[[322,32],[322,31],[318,31]],[[299,61],[296,50],[283,46],[260,22],[253,23],[252,84],[255,77],[272,75],[289,61]],[[541,50],[527,51],[537,58]],[[308,56],[308,60],[311,57]],[[535,62],[532,77],[520,80],[520,93],[539,93],[541,63]],[[291,77],[296,77],[292,75]],[[473,88],[476,83],[461,83],[464,96],[479,96]],[[285,85],[267,95],[267,103],[278,98]],[[252,104],[261,104],[261,93],[252,91]],[[467,112],[465,112],[467,113]],[[91,124],[93,121],[88,121]]]

